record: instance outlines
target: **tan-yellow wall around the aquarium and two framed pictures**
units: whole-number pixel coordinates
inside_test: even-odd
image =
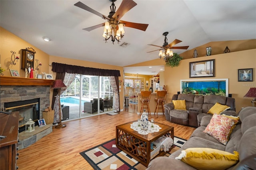
[[[250,98],[244,98],[244,95],[250,87],[256,87],[255,69],[256,69],[256,49],[230,52],[225,54],[211,55],[206,57],[198,57],[184,59],[180,61],[178,67],[165,67],[165,83],[168,92],[177,94],[180,91],[180,80],[189,78],[189,62],[202,61],[207,59],[215,59],[215,77],[194,78],[194,79],[226,79],[228,78],[228,93],[236,99],[236,111],[240,111],[241,107],[252,106]],[[253,68],[253,81],[238,81],[238,69]],[[172,95],[169,95],[168,102],[171,101]]]

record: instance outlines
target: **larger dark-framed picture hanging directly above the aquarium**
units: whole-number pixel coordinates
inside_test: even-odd
[[[189,63],[189,78],[215,77],[215,59]]]

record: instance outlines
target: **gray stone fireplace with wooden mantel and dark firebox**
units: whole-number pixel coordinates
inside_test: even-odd
[[[50,107],[50,85],[54,80],[0,77],[0,110],[20,111],[20,132],[28,119],[42,119],[42,111]],[[25,111],[25,113],[23,112]],[[22,130],[23,129],[23,130]]]

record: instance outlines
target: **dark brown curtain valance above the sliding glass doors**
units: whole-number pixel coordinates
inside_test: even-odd
[[[120,77],[119,70],[97,69],[91,67],[82,67],[78,65],[68,65],[62,63],[52,63],[52,71],[56,73],[76,73],[82,75],[98,75],[98,76],[117,76]]]

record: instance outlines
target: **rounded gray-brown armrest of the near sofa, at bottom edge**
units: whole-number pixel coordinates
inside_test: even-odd
[[[146,170],[196,170],[188,164],[173,158],[160,156],[150,161]]]

